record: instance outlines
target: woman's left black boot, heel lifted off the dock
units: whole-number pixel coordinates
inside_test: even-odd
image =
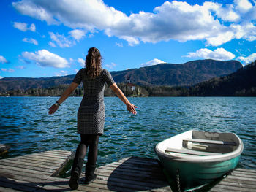
[[[79,185],[79,177],[83,168],[83,158],[74,158],[71,169],[71,177],[69,180],[69,187],[77,189]]]

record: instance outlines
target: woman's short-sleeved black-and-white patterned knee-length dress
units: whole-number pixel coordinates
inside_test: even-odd
[[[78,134],[103,134],[105,123],[105,83],[113,85],[114,80],[106,69],[98,77],[90,78],[86,69],[80,69],[73,82],[83,82],[84,95],[78,109]]]

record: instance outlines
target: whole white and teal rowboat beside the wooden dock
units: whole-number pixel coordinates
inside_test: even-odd
[[[178,188],[200,188],[236,168],[244,144],[233,133],[190,130],[159,142],[154,151]]]

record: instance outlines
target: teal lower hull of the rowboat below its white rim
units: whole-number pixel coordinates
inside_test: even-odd
[[[227,161],[190,163],[186,161],[170,161],[170,159],[159,157],[171,187],[179,183],[182,191],[191,191],[214,182],[214,180],[235,169],[239,158],[240,155]]]

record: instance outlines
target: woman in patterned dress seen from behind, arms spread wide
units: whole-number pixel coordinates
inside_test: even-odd
[[[86,55],[86,68],[80,69],[74,80],[61,98],[50,107],[49,114],[58,110],[59,106],[67,97],[83,82],[84,95],[78,109],[78,134],[80,134],[80,144],[77,147],[72,165],[69,186],[72,189],[78,188],[78,180],[89,147],[88,159],[86,163],[86,183],[91,183],[96,179],[94,174],[97,161],[99,136],[103,134],[105,123],[104,88],[105,83],[116,93],[119,99],[127,106],[127,110],[136,115],[137,108],[131,104],[124,96],[124,93],[117,87],[111,74],[102,69],[102,56],[97,48],[91,47]]]

